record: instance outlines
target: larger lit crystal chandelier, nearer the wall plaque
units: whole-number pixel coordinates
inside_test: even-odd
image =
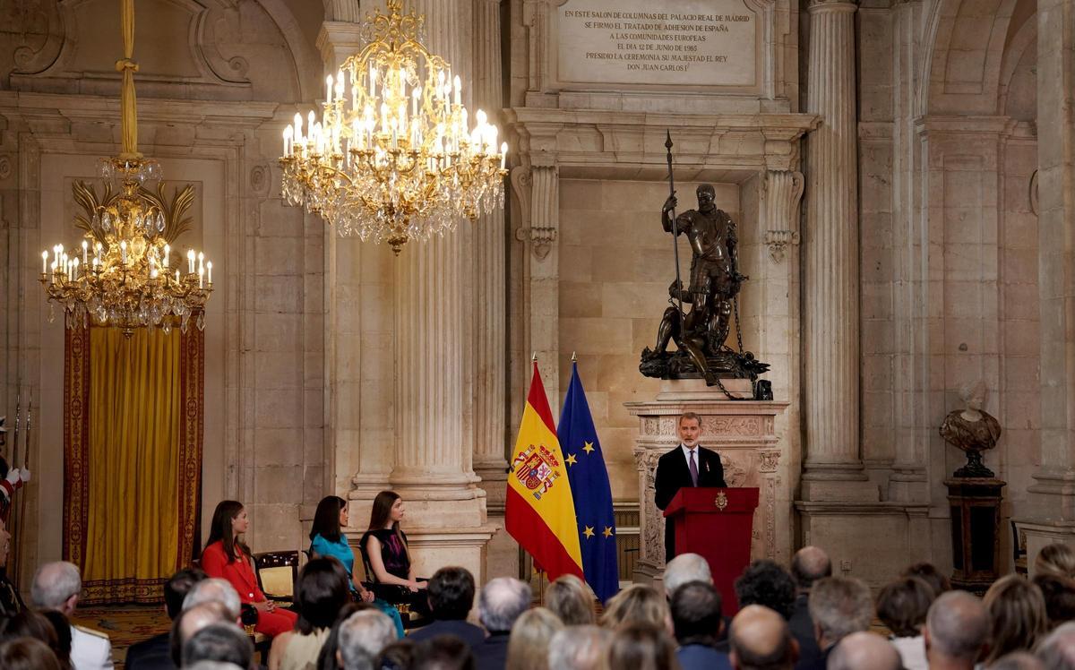
[[[388,0],[367,45],[326,79],[320,118],[284,129],[283,195],[341,237],[387,242],[443,234],[504,203],[507,143],[485,112],[474,125],[459,76],[419,42],[424,16]]]

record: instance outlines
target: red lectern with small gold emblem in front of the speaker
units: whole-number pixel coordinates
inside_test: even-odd
[[[735,580],[750,565],[750,531],[757,488],[685,486],[664,510],[675,524],[675,553],[699,554],[710,562],[713,584],[723,598],[725,615],[739,612]]]

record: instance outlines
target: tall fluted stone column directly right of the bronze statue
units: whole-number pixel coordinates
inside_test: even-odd
[[[806,500],[877,499],[859,455],[859,236],[854,2],[812,0],[804,422]],[[871,495],[872,491],[872,495]]]

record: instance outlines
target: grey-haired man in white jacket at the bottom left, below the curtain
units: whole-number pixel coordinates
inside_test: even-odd
[[[47,562],[33,575],[30,599],[42,609],[59,610],[74,616],[82,593],[82,576],[74,564],[66,560]],[[109,636],[90,628],[71,626],[71,665],[74,670],[112,668],[112,643]]]

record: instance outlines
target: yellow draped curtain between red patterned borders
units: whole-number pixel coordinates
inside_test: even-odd
[[[89,329],[83,582],[112,600],[158,599],[183,565],[181,346],[178,329]]]

